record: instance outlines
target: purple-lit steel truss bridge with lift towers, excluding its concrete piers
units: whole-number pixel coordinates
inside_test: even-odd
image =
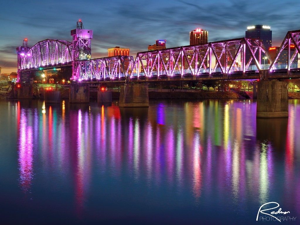
[[[23,45],[17,47],[18,81],[29,83],[30,72],[54,67],[72,67],[71,79],[77,82],[265,80],[298,78],[300,75],[300,65],[295,62],[300,52],[300,30],[287,32],[274,60],[261,40],[251,38],[138,52],[135,58],[114,56],[91,59],[93,31],[84,29],[79,21],[76,29],[71,30],[71,36],[72,42],[46,39],[31,48],[27,46],[27,39],[23,41]],[[286,50],[289,63],[278,63],[278,57]],[[263,55],[267,57],[267,64],[262,64]]]

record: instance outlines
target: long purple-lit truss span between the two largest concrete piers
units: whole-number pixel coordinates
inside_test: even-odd
[[[250,52],[248,61],[245,57],[246,49]],[[256,52],[259,52],[258,58],[255,57]],[[185,75],[212,77],[214,74],[226,78],[235,71],[241,72],[244,77],[247,70],[262,70],[262,53],[272,62],[262,41],[250,38],[139,52],[133,65],[134,71],[137,72],[132,73],[131,78]]]

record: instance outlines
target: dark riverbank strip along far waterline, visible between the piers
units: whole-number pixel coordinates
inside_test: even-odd
[[[61,91],[61,99],[69,98],[68,86],[58,87]],[[119,99],[118,89],[109,89],[113,99]],[[91,86],[90,99],[97,99],[97,87]],[[33,88],[33,99],[40,98],[41,88]],[[253,92],[232,88],[230,91],[218,91],[213,88],[207,89],[152,89],[149,88],[149,99],[252,99]],[[289,92],[289,98],[300,99],[299,92]],[[0,99],[16,99],[11,85],[0,85]]]

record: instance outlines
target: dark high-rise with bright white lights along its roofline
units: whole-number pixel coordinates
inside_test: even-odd
[[[262,41],[265,48],[268,50],[272,46],[272,31],[269,26],[265,25],[254,25],[247,27],[246,31],[246,38],[255,38]],[[258,51],[255,53],[256,59],[258,59]],[[265,54],[262,53],[261,55],[261,63],[263,62],[263,58],[265,57]],[[246,63],[250,59],[250,52],[246,50]],[[251,62],[251,65],[253,65],[254,62]]]

